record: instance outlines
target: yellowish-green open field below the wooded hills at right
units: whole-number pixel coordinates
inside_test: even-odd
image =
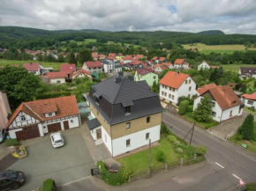
[[[194,44],[194,46],[191,46],[190,44],[184,44],[184,48],[190,49],[190,48],[198,48],[200,52],[205,54],[210,54],[211,52],[215,53],[227,53],[232,54],[235,51],[245,51],[244,45],[205,45],[201,43]],[[256,48],[248,48],[250,50],[256,50]]]

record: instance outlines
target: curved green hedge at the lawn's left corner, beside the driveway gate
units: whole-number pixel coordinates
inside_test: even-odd
[[[131,170],[125,165],[122,165],[119,168],[118,173],[110,173],[106,165],[102,161],[97,162],[98,168],[99,168],[99,165],[101,165],[102,180],[104,180],[107,184],[118,186],[118,185],[124,184],[129,180],[129,175],[131,173]]]

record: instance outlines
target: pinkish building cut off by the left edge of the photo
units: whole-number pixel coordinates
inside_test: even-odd
[[[0,129],[4,129],[8,116],[11,115],[11,108],[7,99],[7,95],[0,91]]]

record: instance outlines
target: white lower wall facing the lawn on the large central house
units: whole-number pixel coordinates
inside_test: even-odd
[[[146,139],[146,134],[149,133],[151,143],[159,141],[160,139],[160,125],[154,126],[150,129],[141,130],[128,136],[122,136],[120,138],[112,140],[113,143],[113,157],[124,154],[127,151],[138,149],[149,143]],[[131,145],[126,147],[126,140],[130,139]]]

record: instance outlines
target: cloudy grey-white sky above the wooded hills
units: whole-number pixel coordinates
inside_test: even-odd
[[[256,34],[256,0],[0,0],[0,26]]]

